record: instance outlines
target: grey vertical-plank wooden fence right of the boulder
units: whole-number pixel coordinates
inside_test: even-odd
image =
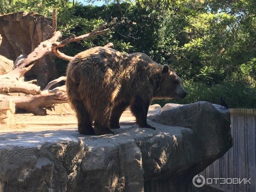
[[[256,192],[256,110],[230,109],[230,119],[233,147],[201,175],[206,178],[251,177],[251,184],[210,186],[224,192]]]

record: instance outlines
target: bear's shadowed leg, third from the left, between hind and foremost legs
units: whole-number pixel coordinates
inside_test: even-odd
[[[110,117],[110,128],[111,129],[120,128],[119,119],[120,119],[122,113],[125,111],[125,109],[128,106],[129,106],[129,104],[127,102],[121,102],[112,109],[112,113],[111,113],[111,117]]]

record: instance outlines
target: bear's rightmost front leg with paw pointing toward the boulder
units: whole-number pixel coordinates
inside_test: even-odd
[[[151,128],[156,130],[147,123],[148,107],[150,102],[145,102],[140,96],[136,96],[133,102],[131,102],[131,112],[136,117],[136,122],[140,128]]]

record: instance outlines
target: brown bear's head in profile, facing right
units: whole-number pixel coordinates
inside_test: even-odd
[[[183,81],[175,73],[169,69],[168,65],[164,65],[160,71],[159,85],[154,98],[158,99],[183,99],[188,94],[183,87]]]

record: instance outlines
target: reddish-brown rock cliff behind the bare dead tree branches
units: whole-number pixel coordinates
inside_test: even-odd
[[[38,13],[18,12],[0,15],[2,43],[0,55],[15,61],[20,55],[29,54],[38,44],[51,35],[52,20]],[[58,77],[55,56],[51,53],[39,59],[29,72],[28,79],[38,79],[42,87]]]

